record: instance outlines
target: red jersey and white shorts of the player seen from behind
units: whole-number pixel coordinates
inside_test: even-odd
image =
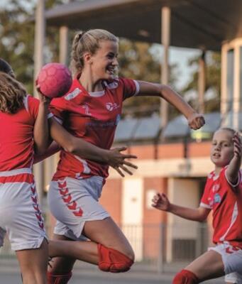
[[[38,248],[46,237],[32,173],[38,106],[28,95],[16,114],[0,111],[0,246],[8,233],[14,251]]]

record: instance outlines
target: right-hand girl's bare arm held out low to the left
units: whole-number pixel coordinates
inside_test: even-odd
[[[204,207],[192,209],[172,204],[164,193],[158,193],[153,197],[152,206],[162,211],[171,212],[184,219],[198,222],[204,222],[210,212],[210,209]]]

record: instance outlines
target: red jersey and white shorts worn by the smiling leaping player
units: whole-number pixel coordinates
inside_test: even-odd
[[[64,97],[53,99],[50,109],[74,136],[109,149],[123,100],[138,94],[139,85],[120,78],[111,83],[104,81],[103,87],[101,92],[89,93],[75,79]],[[85,222],[109,217],[98,202],[107,176],[107,165],[61,152],[48,194],[50,210],[57,219],[55,234],[82,239]]]

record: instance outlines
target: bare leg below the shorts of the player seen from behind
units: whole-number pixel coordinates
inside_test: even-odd
[[[16,256],[21,268],[23,284],[47,283],[48,243],[46,240],[39,249],[16,251]]]

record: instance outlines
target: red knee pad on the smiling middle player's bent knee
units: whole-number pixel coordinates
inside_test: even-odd
[[[106,248],[106,246],[101,244],[98,244],[98,252],[99,269],[101,271],[109,271],[112,273],[126,272],[129,271],[133,265],[133,252],[126,256],[115,249]]]

